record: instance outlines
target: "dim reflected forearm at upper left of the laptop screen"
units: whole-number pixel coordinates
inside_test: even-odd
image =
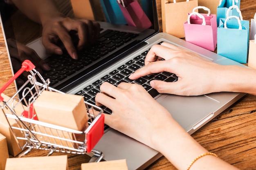
[[[12,2],[29,19],[39,24],[63,16],[53,0],[12,0]]]

